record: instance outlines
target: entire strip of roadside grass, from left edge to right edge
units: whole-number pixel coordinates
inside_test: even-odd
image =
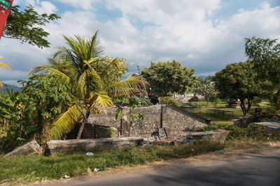
[[[217,150],[262,148],[268,141],[279,141],[280,130],[267,129],[252,125],[246,129],[234,125],[211,125],[200,131],[225,129],[230,134],[225,143],[218,141],[197,141],[195,144],[181,146],[153,145],[94,152],[58,153],[45,157],[29,155],[18,157],[0,157],[1,183],[34,183],[36,181],[60,179],[64,175],[80,176],[92,173],[94,168],[104,171],[117,166],[134,166],[169,158],[183,158]]]

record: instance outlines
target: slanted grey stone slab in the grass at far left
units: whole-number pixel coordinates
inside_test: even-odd
[[[5,157],[10,157],[15,155],[34,155],[40,152],[41,152],[40,146],[37,144],[37,141],[33,140],[25,144],[24,146],[15,148],[15,150],[11,151],[10,153],[7,153]]]

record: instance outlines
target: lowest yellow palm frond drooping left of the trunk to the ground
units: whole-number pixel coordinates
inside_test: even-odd
[[[52,123],[50,130],[53,139],[61,139],[62,134],[66,134],[73,129],[73,126],[80,119],[83,109],[78,105],[73,105],[70,109],[60,114]]]

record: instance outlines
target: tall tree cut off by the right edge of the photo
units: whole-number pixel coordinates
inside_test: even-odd
[[[280,111],[280,43],[269,38],[245,38],[245,54],[262,82],[262,98],[269,98],[270,110]]]

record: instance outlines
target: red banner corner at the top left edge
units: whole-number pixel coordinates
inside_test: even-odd
[[[12,4],[13,0],[0,0],[0,39],[5,28]]]

